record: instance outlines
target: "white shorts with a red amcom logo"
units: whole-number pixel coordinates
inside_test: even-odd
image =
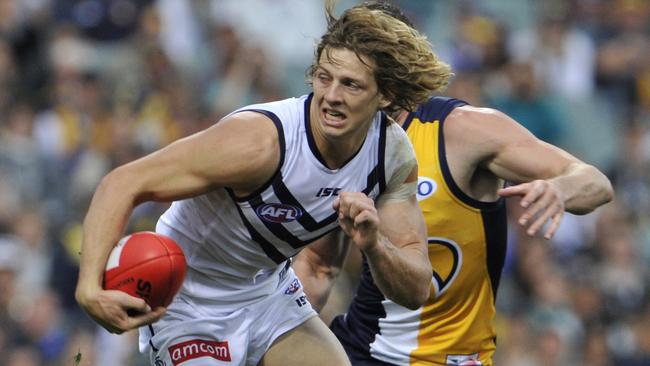
[[[257,365],[273,341],[314,316],[289,268],[271,295],[230,312],[179,294],[162,319],[140,328],[140,345],[154,366]]]

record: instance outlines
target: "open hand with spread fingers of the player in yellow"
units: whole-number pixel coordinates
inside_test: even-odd
[[[522,197],[519,204],[525,212],[518,222],[521,226],[528,226],[528,235],[535,235],[550,220],[544,233],[544,238],[550,239],[560,226],[564,216],[564,199],[560,190],[551,182],[538,179],[500,189],[497,194],[501,197]]]

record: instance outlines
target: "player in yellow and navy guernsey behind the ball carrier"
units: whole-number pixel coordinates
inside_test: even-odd
[[[399,9],[364,4],[409,24]],[[495,296],[506,252],[503,197],[521,197],[518,223],[551,238],[565,211],[586,214],[612,198],[595,167],[538,140],[505,114],[434,97],[396,111],[415,148],[418,201],[433,267],[430,297],[409,310],[387,300],[364,260],[348,312],[331,329],[353,365],[492,365]],[[502,188],[504,181],[515,184]],[[294,268],[316,308],[324,305],[345,248],[309,247]]]

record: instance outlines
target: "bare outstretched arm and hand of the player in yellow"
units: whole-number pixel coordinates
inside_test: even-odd
[[[447,135],[462,136],[464,146],[471,147],[465,150],[473,154],[468,161],[478,161],[480,167],[516,184],[498,194],[522,198],[525,212],[518,222],[529,235],[550,222],[544,233],[549,239],[564,211],[586,214],[612,199],[611,183],[598,169],[537,139],[499,111],[465,106],[448,119]]]

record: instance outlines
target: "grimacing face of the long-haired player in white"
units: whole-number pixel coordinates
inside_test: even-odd
[[[377,87],[374,62],[348,49],[326,48],[311,77],[310,120],[317,143],[360,146],[377,110],[389,104]]]

